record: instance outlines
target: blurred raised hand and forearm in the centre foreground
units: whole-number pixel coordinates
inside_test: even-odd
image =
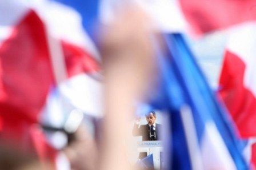
[[[133,169],[127,143],[134,102],[143,98],[153,79],[153,27],[137,6],[126,5],[101,34],[105,78],[105,119],[100,169]]]

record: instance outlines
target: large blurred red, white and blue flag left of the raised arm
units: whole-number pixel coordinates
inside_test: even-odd
[[[102,116],[101,59],[90,37],[97,1],[90,2],[0,1],[0,133],[10,145],[47,158],[47,148],[61,146],[35,124],[61,128],[75,108]]]

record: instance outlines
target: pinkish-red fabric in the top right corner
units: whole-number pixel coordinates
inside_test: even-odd
[[[256,19],[256,0],[179,0],[198,34]]]

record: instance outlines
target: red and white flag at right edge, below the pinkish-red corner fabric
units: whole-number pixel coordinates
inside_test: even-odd
[[[219,79],[219,94],[226,104],[243,139],[254,140],[255,131],[255,23],[234,29],[227,43],[222,72]],[[249,143],[249,159],[256,165],[255,140]],[[252,154],[252,155],[251,155]]]

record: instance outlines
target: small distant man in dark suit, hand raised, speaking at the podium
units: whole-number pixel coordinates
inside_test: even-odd
[[[160,140],[160,131],[162,125],[155,123],[157,116],[154,111],[146,114],[147,124],[143,124],[139,127],[138,123],[135,123],[133,126],[133,136],[142,136],[142,141],[146,140]],[[146,157],[146,153],[139,153],[139,159]]]

